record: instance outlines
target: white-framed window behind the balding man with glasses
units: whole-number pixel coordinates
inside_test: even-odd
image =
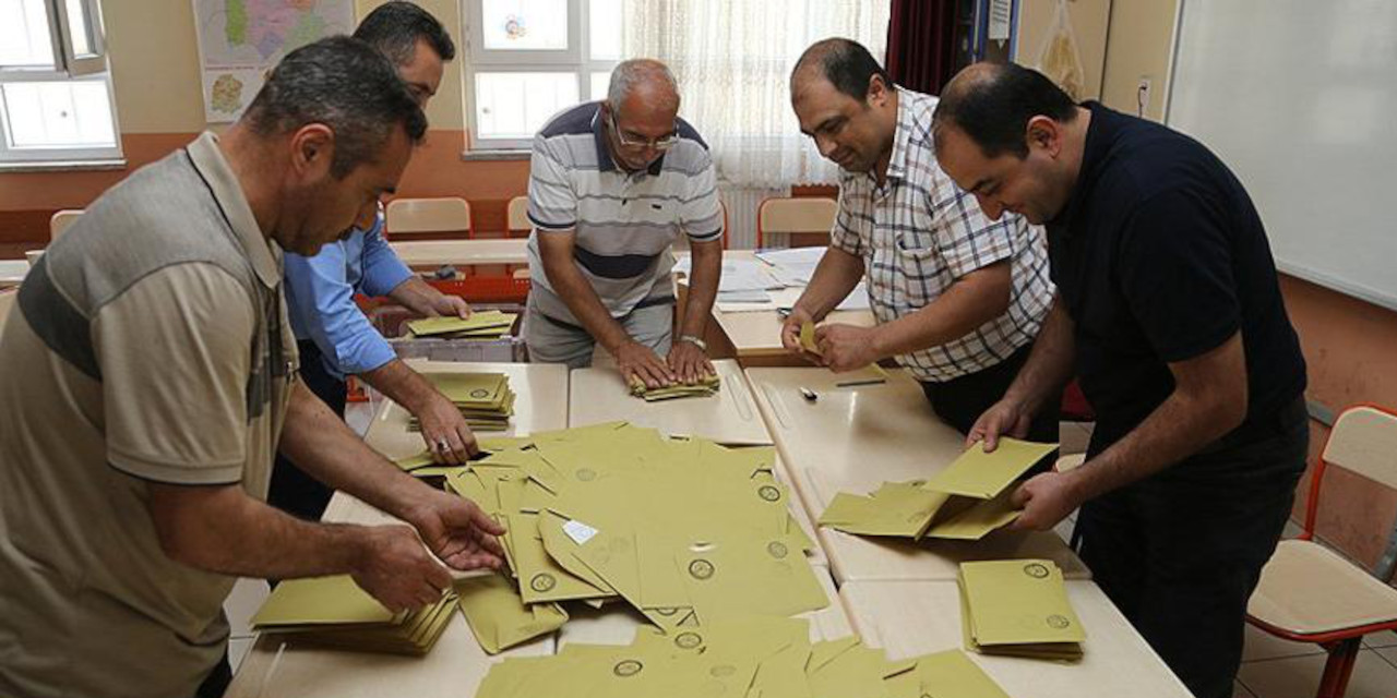
[[[606,96],[620,61],[622,0],[464,4],[471,148],[528,148],[550,116]]]

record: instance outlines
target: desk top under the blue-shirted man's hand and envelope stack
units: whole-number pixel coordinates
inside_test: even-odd
[[[545,363],[460,363],[409,360],[419,373],[497,371],[510,377],[510,388],[518,396],[507,431],[476,431],[476,437],[520,436],[567,427],[567,367]],[[420,454],[422,434],[408,431],[412,415],[393,401],[384,401],[365,433],[365,441],[388,458]]]

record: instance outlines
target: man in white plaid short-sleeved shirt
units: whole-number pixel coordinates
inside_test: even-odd
[[[1023,216],[981,212],[936,163],[936,98],[898,88],[868,49],[826,39],[791,73],[800,130],[840,166],[840,211],[830,250],[781,329],[819,321],[868,275],[877,325],[827,324],[820,356],[835,371],[895,357],[921,383],[932,409],[968,433],[1023,367],[1052,304],[1042,228]],[[1058,410],[1028,437],[1058,440]]]

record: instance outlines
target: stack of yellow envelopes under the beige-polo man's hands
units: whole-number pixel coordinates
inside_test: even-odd
[[[349,575],[289,579],[253,616],[253,630],[316,645],[425,655],[446,631],[455,593],[412,613],[391,613]]]

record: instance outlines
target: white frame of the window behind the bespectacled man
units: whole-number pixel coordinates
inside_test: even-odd
[[[467,155],[497,151],[528,151],[528,138],[481,137],[476,107],[476,75],[482,73],[570,73],[577,81],[577,95],[583,101],[602,99],[591,95],[592,73],[610,73],[620,59],[591,57],[591,0],[567,0],[567,49],[486,49],[483,0],[461,0],[461,36],[468,43],[469,60],[462,70],[465,95]]]

